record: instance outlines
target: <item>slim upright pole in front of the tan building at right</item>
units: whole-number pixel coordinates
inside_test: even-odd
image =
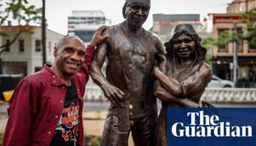
[[[237,23],[234,22],[234,31],[235,31],[235,38],[237,37]],[[234,48],[233,48],[233,63],[234,63],[234,71],[233,71],[233,82],[235,84],[236,87],[236,77],[237,77],[237,66],[238,66],[238,62],[237,62],[237,41],[234,40]]]

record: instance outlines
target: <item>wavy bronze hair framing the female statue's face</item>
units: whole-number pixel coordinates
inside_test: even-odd
[[[197,34],[189,34],[188,31],[178,31],[176,34],[173,35],[173,37],[170,39],[169,42],[165,42],[165,50],[166,50],[166,58],[173,58],[174,52],[173,52],[173,40],[179,37],[181,34],[186,34],[187,36],[191,37],[193,41],[195,41],[195,53],[193,53],[194,58],[197,58],[198,60],[204,61],[205,55],[206,55],[206,47],[201,46],[201,38]]]

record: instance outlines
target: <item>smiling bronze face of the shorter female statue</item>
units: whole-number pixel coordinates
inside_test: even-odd
[[[173,39],[173,51],[180,58],[191,58],[195,52],[195,41],[186,34]]]

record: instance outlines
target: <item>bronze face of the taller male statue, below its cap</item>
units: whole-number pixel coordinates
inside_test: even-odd
[[[132,27],[142,27],[148,18],[150,7],[147,4],[132,3],[127,7],[127,21]]]

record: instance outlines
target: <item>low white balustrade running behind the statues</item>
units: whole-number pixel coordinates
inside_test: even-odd
[[[107,101],[97,86],[87,86],[86,101]],[[206,88],[201,100],[208,102],[256,103],[256,88]]]

